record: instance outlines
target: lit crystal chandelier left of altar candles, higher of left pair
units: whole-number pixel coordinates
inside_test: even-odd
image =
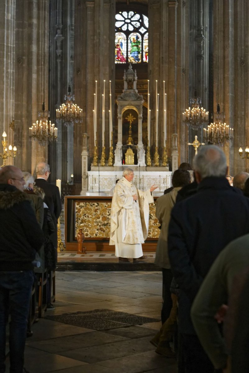
[[[74,104],[74,95],[71,95],[71,87],[68,86],[68,94],[65,95],[65,104],[56,109],[56,121],[62,120],[65,126],[73,126],[74,123],[82,122],[82,109]]]

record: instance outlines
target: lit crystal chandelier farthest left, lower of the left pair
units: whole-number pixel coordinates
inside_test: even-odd
[[[39,145],[45,146],[47,142],[57,140],[57,128],[49,120],[50,112],[45,110],[44,103],[42,110],[38,112],[38,117],[41,117],[41,119],[33,123],[32,127],[29,127],[29,137],[38,141]]]

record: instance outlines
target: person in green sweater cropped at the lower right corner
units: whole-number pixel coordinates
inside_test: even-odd
[[[245,313],[249,304],[248,247],[247,234],[230,242],[221,251],[205,277],[191,310],[193,325],[203,348],[217,371],[223,373],[230,372],[230,368],[233,373],[248,372],[249,369],[248,313]],[[247,296],[243,294],[245,283]],[[241,303],[243,306],[238,308]],[[216,315],[220,307],[226,310],[227,304],[225,343]]]

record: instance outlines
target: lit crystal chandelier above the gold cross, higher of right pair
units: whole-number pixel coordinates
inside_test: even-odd
[[[190,98],[191,107],[185,109],[185,112],[183,113],[183,123],[192,129],[197,130],[203,124],[208,123],[208,112],[206,112],[206,109],[203,109],[201,106],[202,101],[200,97],[196,97],[196,91],[194,95],[194,98]]]

